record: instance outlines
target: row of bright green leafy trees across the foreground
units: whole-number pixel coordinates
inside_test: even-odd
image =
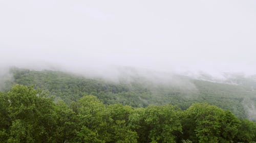
[[[67,105],[33,87],[0,92],[0,142],[253,142],[256,123],[197,103],[133,108],[84,95]]]

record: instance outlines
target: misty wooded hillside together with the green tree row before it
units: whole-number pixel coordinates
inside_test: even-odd
[[[255,76],[125,71],[111,80],[10,68],[0,142],[256,141]]]

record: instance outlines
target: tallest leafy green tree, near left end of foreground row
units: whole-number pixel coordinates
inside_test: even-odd
[[[12,120],[9,142],[52,142],[56,116],[51,98],[33,87],[14,85],[8,92]]]

